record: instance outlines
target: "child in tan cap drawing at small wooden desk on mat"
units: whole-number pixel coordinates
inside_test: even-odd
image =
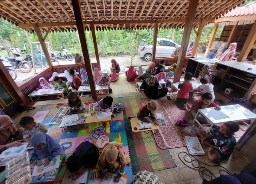
[[[150,119],[145,117],[148,117],[148,115],[150,114],[152,121],[154,121],[155,125],[158,125],[158,122],[156,121],[156,116],[155,116],[157,107],[158,107],[157,102],[155,100],[150,100],[150,102],[147,105],[142,106],[139,109],[139,112],[137,114],[138,119],[140,121],[149,123]],[[132,118],[134,118],[134,116],[129,116],[128,121],[130,121]]]

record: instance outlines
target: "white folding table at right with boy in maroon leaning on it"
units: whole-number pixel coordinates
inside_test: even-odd
[[[214,124],[218,123],[224,123],[227,121],[242,121],[246,125],[248,125],[246,120],[252,120],[256,119],[256,114],[250,112],[248,109],[244,108],[243,106],[240,106],[238,104],[236,105],[231,105],[231,106],[221,106],[221,110],[218,112],[214,108],[206,108],[206,109],[199,109],[196,117],[198,117],[198,114],[200,113],[203,117],[205,117],[210,123],[209,124],[201,124],[196,117],[194,118],[194,121],[202,127],[202,129],[206,132],[209,133],[209,131],[212,129]],[[212,114],[214,113],[214,114]],[[223,117],[223,114],[228,117]],[[223,117],[223,118],[222,118]],[[194,122],[193,121],[193,122]],[[204,126],[210,125],[209,130],[207,131]],[[250,126],[250,125],[248,125]]]

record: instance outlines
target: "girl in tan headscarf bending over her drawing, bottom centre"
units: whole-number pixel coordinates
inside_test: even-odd
[[[98,166],[96,166],[96,168],[100,168],[105,173],[116,172],[120,169],[114,182],[119,182],[122,175],[125,174],[125,166],[131,165],[130,158],[127,153],[124,153],[122,145],[123,143],[117,143],[116,141],[106,143],[100,155]]]

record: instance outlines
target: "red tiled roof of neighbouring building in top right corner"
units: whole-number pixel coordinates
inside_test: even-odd
[[[243,7],[238,7],[226,14],[222,17],[234,17],[234,16],[243,16],[243,15],[252,15],[256,14],[256,2],[247,4]]]

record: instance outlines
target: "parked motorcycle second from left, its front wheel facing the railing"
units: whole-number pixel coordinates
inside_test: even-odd
[[[5,58],[10,62],[10,64],[12,64],[14,69],[19,69],[23,73],[28,73],[32,70],[31,65],[24,61],[23,57],[20,57],[21,55],[19,53],[13,51],[12,54],[15,56],[15,58],[9,56],[5,56]]]

